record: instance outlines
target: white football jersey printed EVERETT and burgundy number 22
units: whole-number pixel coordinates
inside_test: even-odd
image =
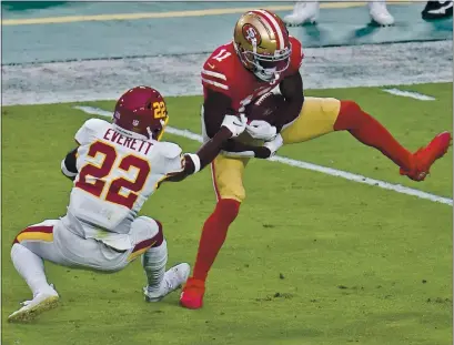
[[[122,135],[104,120],[88,120],[75,141],[79,173],[68,211],[93,230],[127,234],[158,184],[183,169],[179,145]]]

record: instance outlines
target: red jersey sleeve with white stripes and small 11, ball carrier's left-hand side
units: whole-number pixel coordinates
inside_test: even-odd
[[[228,97],[232,95],[232,78],[229,72],[233,58],[232,52],[225,45],[218,48],[208,58],[201,72],[203,89],[221,92]]]

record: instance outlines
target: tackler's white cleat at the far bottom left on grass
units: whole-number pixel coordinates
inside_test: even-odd
[[[33,300],[22,302],[19,311],[8,316],[8,322],[28,322],[40,315],[42,312],[57,307],[59,294],[49,285],[49,288],[38,293]]]

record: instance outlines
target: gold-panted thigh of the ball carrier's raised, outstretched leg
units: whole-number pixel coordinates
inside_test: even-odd
[[[340,109],[341,101],[336,99],[305,98],[300,116],[281,132],[284,144],[299,143],[333,132]]]

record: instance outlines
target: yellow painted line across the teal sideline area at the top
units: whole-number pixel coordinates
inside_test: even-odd
[[[393,1],[396,4],[400,2]],[[321,3],[321,8],[340,9],[364,6],[364,1],[329,2]],[[293,4],[269,6],[261,9],[270,11],[291,11]],[[189,18],[204,16],[235,14],[253,10],[251,7],[230,8],[230,9],[203,9],[203,10],[183,10],[169,12],[141,12],[141,13],[113,13],[113,14],[88,14],[88,16],[63,16],[63,17],[43,17],[43,18],[22,18],[3,19],[2,26],[30,26],[30,24],[54,24],[82,21],[110,21],[110,20],[138,20],[138,19],[159,19],[159,18]]]

